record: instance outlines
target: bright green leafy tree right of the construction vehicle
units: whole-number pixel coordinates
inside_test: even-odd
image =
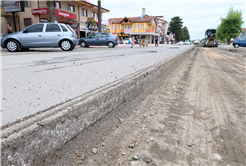
[[[242,32],[242,24],[244,23],[242,11],[229,8],[226,18],[220,18],[221,23],[216,29],[217,39],[230,43],[231,38],[236,38]]]

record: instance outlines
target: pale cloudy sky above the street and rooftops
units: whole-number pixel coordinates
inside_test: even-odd
[[[89,2],[97,4],[97,0]],[[242,11],[242,28],[246,28],[245,0],[101,0],[101,6],[110,10],[103,14],[103,20],[140,16],[142,8],[145,8],[148,15],[163,15],[168,22],[171,18],[180,16],[183,26],[189,30],[191,40],[203,39],[206,29],[216,29],[221,22],[220,18],[226,17],[230,7]]]

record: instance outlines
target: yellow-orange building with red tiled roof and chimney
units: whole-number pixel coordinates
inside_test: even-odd
[[[146,15],[145,8],[141,16],[110,18],[108,21],[111,23],[111,32],[116,33],[121,39],[146,37],[149,42],[153,43],[154,38],[160,36],[157,32],[158,19],[156,16]]]

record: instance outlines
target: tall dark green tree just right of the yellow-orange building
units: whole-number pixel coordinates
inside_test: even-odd
[[[179,16],[173,17],[169,23],[168,29],[175,34],[175,41],[180,41],[180,34],[183,26],[183,21]]]

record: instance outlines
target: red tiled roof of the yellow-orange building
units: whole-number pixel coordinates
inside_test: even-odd
[[[133,23],[138,23],[138,22],[141,23],[141,22],[151,22],[151,21],[155,18],[155,16],[148,16],[148,15],[145,15],[145,16],[144,16],[144,19],[141,19],[140,16],[138,16],[138,17],[116,18],[116,24],[121,23],[125,18],[128,19],[129,21],[133,22]],[[114,20],[115,20],[115,18],[110,18],[110,19],[108,19],[108,21],[109,21],[109,22],[112,21],[112,23],[115,23]]]

